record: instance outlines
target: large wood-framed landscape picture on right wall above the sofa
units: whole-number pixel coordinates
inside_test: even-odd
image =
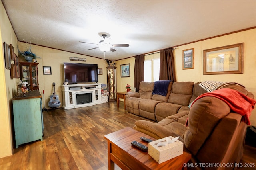
[[[203,74],[242,74],[243,46],[238,43],[204,50]]]

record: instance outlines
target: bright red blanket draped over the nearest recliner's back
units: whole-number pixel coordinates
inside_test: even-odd
[[[230,88],[222,88],[213,92],[201,94],[194,100],[194,102],[205,96],[213,96],[224,101],[232,111],[242,115],[242,121],[244,121],[247,125],[250,125],[249,117],[252,110],[254,109],[256,100],[249,98],[248,96],[236,90]]]

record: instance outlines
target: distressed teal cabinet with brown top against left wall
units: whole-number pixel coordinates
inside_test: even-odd
[[[16,148],[19,145],[43,140],[42,96],[38,90],[12,99]]]

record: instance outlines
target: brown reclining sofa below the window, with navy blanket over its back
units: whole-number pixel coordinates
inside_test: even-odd
[[[153,121],[181,111],[189,111],[188,105],[200,94],[207,92],[199,83],[170,82],[166,96],[152,94],[154,82],[140,82],[138,93],[126,93],[126,110]]]

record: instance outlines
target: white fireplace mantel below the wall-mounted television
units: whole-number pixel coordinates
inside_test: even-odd
[[[102,104],[101,99],[101,84],[102,83],[92,83],[92,84],[69,84],[62,86],[63,92],[63,108],[73,109],[79,107],[92,106],[96,104]],[[92,93],[92,102],[77,104],[76,94]]]

